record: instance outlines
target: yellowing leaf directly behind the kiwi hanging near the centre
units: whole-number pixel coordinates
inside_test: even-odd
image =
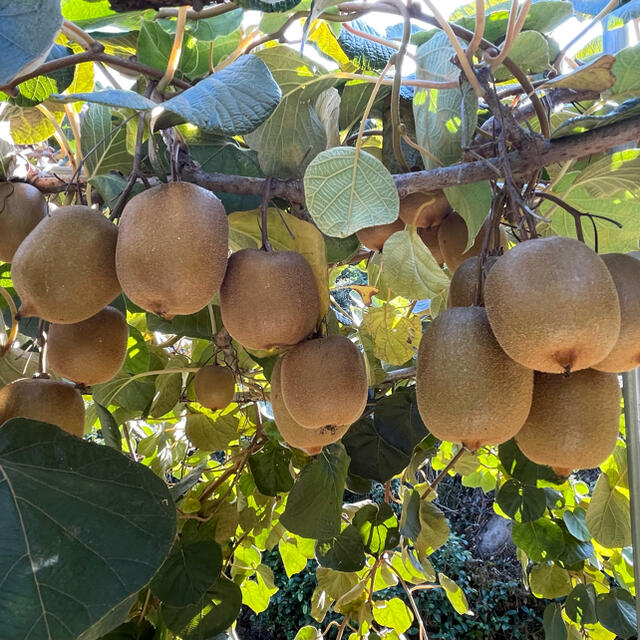
[[[268,211],[267,230],[276,251],[297,251],[311,265],[320,296],[320,321],[329,309],[329,266],[322,234],[310,222],[276,209]],[[229,216],[229,246],[233,251],[256,249],[261,244],[259,211],[236,211]]]

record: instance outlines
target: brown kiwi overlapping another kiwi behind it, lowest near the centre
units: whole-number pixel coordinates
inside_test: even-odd
[[[282,395],[307,429],[355,422],[367,403],[362,354],[344,336],[300,343],[282,358]]]

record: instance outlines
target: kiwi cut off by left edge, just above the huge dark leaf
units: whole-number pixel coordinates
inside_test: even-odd
[[[84,401],[67,382],[21,378],[0,389],[0,425],[11,418],[55,424],[80,438],[84,433]]]

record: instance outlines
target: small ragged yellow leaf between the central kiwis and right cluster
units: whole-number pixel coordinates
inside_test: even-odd
[[[373,353],[376,358],[392,365],[410,360],[422,335],[420,318],[404,312],[390,304],[367,309],[364,325],[373,338]]]

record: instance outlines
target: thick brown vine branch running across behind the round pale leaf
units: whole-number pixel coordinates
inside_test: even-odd
[[[506,159],[515,177],[528,176],[535,169],[573,158],[603,153],[638,138],[640,138],[640,117],[629,118],[575,136],[532,141],[528,147],[507,154]],[[495,179],[498,175],[504,175],[501,159],[487,158],[479,162],[462,162],[428,171],[399,173],[394,175],[394,180],[400,196],[404,197],[416,191],[436,191],[457,184]],[[240,195],[261,196],[265,184],[265,178],[207,173],[196,165],[184,167],[182,176],[184,180],[199,184],[211,191]],[[304,202],[302,181],[274,178],[271,180],[271,196],[285,198],[291,202]]]

